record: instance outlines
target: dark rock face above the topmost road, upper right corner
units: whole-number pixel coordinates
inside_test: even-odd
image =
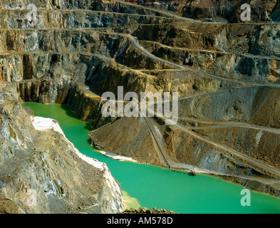
[[[192,19],[209,19],[217,21],[230,21],[231,23],[242,22],[242,4],[251,6],[252,21],[279,21],[279,1],[228,1],[228,0],[190,0],[190,1],[170,1],[170,0],[126,0],[138,3],[142,6],[152,6],[156,9],[172,11],[177,15]]]

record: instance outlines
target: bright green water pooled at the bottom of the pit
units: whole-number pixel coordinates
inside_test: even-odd
[[[177,172],[120,162],[100,154],[88,142],[90,126],[76,118],[66,105],[24,103],[36,116],[58,120],[68,140],[80,152],[105,162],[113,177],[138,199],[141,207],[170,209],[177,213],[280,213],[280,199],[251,191],[251,206],[242,207],[240,195],[244,188],[207,175],[190,177]]]

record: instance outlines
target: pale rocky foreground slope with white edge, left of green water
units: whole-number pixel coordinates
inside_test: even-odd
[[[1,197],[19,213],[118,213],[124,202],[108,167],[82,155],[56,120],[36,118],[6,93],[1,107]],[[4,200],[1,200],[1,202]]]

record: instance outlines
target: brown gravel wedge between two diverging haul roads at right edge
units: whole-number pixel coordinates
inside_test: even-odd
[[[194,129],[199,135],[203,135],[214,142],[221,142],[241,151],[249,156],[255,157],[267,164],[279,168],[279,132],[266,128],[249,128],[248,125],[220,125],[219,127],[204,127],[204,129]]]

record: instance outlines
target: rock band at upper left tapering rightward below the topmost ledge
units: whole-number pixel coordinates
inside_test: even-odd
[[[106,11],[61,11],[38,9],[36,23],[26,20],[30,10],[1,10],[0,28],[108,28],[118,26],[135,26],[138,24],[160,24],[170,22],[170,19],[152,15],[131,15],[125,13],[110,13]]]

